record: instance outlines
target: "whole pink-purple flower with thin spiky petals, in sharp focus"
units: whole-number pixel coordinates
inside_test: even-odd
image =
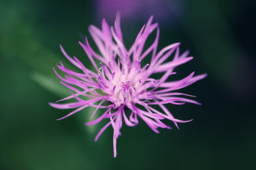
[[[138,117],[149,125],[154,132],[159,133],[157,128],[168,128],[162,120],[169,119],[178,128],[177,123],[186,123],[191,120],[178,120],[171,115],[165,104],[182,105],[184,103],[196,103],[182,96],[191,96],[173,92],[183,87],[189,86],[194,82],[206,77],[202,74],[193,77],[193,73],[179,81],[166,81],[171,79],[176,72],[174,68],[180,64],[192,60],[193,57],[187,57],[188,52],[179,54],[180,43],[174,43],[164,47],[160,52],[156,52],[159,40],[159,26],[157,23],[151,23],[153,16],[142,27],[137,35],[132,47],[127,50],[122,40],[122,31],[120,29],[120,14],[117,13],[114,27],[109,26],[105,19],[102,20],[102,30],[95,26],[90,26],[89,31],[95,41],[100,54],[92,50],[87,38],[85,43],[79,42],[85,50],[87,57],[95,71],[87,69],[76,57],[70,57],[60,49],[67,59],[78,67],[82,73],[73,72],[64,67],[60,62],[58,68],[63,71],[65,77],[57,76],[61,79],[60,83],[68,87],[71,96],[63,98],[65,101],[75,98],[77,101],[73,103],[50,103],[50,106],[59,109],[76,108],[63,118],[67,118],[78,111],[87,107],[95,107],[92,113],[93,118],[99,109],[105,109],[102,115],[92,120],[86,125],[95,125],[104,118],[109,119],[107,125],[95,137],[95,141],[100,137],[102,132],[110,125],[114,130],[113,145],[114,157],[117,156],[117,137],[121,135],[120,129],[122,123],[128,126],[135,126],[139,123]],[[156,38],[148,49],[144,49],[144,44],[149,35],[156,30]],[[141,66],[144,57],[151,55],[151,62]],[[166,61],[171,55],[172,60]],[[54,69],[54,68],[53,68]],[[55,71],[55,69],[54,69]],[[160,79],[153,79],[152,74],[161,74]],[[193,96],[191,96],[193,97]],[[86,99],[85,99],[86,98]],[[58,102],[58,101],[57,101]],[[161,111],[154,108],[154,105],[160,106]],[[63,118],[59,118],[63,119]]]

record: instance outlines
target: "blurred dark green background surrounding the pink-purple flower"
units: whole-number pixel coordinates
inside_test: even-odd
[[[255,3],[125,3],[0,0],[0,169],[256,169]],[[196,71],[208,77],[179,90],[197,96],[203,106],[169,106],[174,117],[193,118],[191,123],[177,130],[167,121],[174,130],[160,134],[143,121],[134,128],[124,125],[114,159],[112,128],[94,142],[107,121],[86,127],[92,109],[56,121],[69,111],[48,102],[68,95],[53,72],[60,60],[73,68],[59,44],[86,62],[79,34],[90,37],[87,27],[100,27],[102,17],[113,25],[117,8],[127,47],[153,14],[159,50],[181,42],[181,52],[189,49],[194,57],[176,69],[178,75]]]

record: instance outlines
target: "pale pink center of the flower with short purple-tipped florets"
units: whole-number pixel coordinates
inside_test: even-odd
[[[137,62],[137,67],[132,67],[132,69],[125,66],[122,66],[123,69],[119,69],[119,66],[113,68],[109,64],[111,73],[106,66],[101,64],[97,81],[102,92],[107,94],[105,100],[114,103],[113,108],[118,108],[121,105],[130,107],[132,103],[140,103],[141,100],[151,100],[155,97],[154,94],[146,90],[157,84],[159,80],[144,79],[145,69],[149,64],[141,69],[140,62]]]

